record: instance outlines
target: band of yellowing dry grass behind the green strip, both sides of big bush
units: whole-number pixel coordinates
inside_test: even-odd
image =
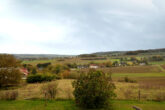
[[[73,87],[72,82],[74,80],[62,79],[52,81],[51,83],[58,83],[57,99],[73,99]],[[157,83],[156,83],[157,82]],[[129,99],[138,100],[139,90],[141,91],[141,100],[156,100],[160,97],[159,94],[165,94],[165,80],[164,78],[140,78],[138,83],[126,83],[126,82],[114,82],[116,86],[115,93],[116,99]],[[47,83],[27,84],[21,88],[18,88],[19,100],[22,99],[42,99],[44,96],[41,93],[41,87]],[[155,88],[156,87],[156,88]],[[4,92],[7,90],[1,90]]]

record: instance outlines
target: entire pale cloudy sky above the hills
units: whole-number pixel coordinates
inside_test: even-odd
[[[165,0],[0,0],[0,53],[165,48]]]

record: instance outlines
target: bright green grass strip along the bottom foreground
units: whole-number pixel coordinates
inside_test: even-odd
[[[47,106],[44,105],[44,100],[0,101],[0,110],[83,110],[76,107],[73,100],[48,101]],[[165,102],[114,101],[114,110],[133,110],[132,106],[143,110],[165,110]]]

